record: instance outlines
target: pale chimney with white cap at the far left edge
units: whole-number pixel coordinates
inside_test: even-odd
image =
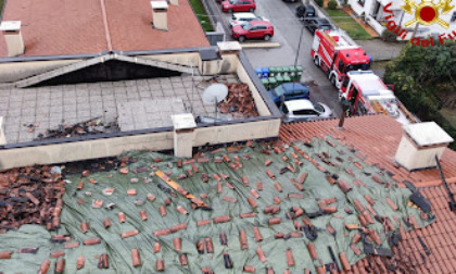
[[[8,57],[17,57],[24,53],[24,40],[21,34],[21,21],[3,21],[0,24],[7,41]]]

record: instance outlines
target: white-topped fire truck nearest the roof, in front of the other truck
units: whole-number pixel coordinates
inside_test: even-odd
[[[393,91],[371,71],[349,72],[339,90],[339,97],[350,102],[352,115],[383,113],[402,124],[417,122]]]

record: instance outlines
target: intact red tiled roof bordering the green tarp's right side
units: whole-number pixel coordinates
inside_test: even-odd
[[[420,192],[429,199],[435,222],[425,228],[405,233],[402,229],[402,241],[398,248],[393,248],[395,257],[402,261],[407,271],[416,273],[456,273],[456,213],[448,207],[448,196],[445,191],[436,169],[407,172],[394,167],[393,159],[403,135],[400,123],[385,115],[368,115],[345,120],[344,129],[337,128],[339,120],[295,123],[282,125],[281,140],[311,140],[314,137],[333,136],[342,142],[352,146],[366,157],[366,162],[378,164],[395,174],[398,182],[407,179],[419,187]],[[441,165],[453,192],[456,192],[456,152],[446,149],[441,159]],[[429,248],[426,256],[418,236]],[[422,256],[421,256],[422,254]],[[372,273],[373,269],[384,273],[391,260],[363,259],[352,265],[347,273]],[[404,263],[407,262],[407,263]],[[387,263],[387,264],[385,264]],[[401,272],[402,273],[402,272]],[[410,272],[414,273],[414,272]]]

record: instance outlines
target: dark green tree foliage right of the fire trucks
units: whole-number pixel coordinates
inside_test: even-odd
[[[456,127],[439,112],[442,108],[456,111],[456,42],[436,42],[433,47],[408,43],[387,66],[384,82],[394,85],[397,98],[421,121],[435,121],[456,139]],[[452,148],[456,149],[455,142]]]

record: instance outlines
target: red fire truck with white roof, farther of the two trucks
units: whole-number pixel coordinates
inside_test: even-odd
[[[311,55],[338,88],[347,72],[370,66],[369,55],[343,30],[316,30]]]

